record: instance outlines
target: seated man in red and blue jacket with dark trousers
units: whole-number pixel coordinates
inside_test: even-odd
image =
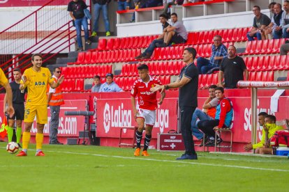
[[[232,122],[232,106],[230,100],[224,95],[224,88],[217,87],[215,89],[215,95],[218,99],[218,105],[216,106],[216,115],[214,120],[201,120],[198,122],[199,129],[208,136],[208,141],[205,143],[206,147],[213,147],[215,145],[215,131],[223,127],[230,127]],[[222,143],[223,140],[217,136],[217,145]]]

